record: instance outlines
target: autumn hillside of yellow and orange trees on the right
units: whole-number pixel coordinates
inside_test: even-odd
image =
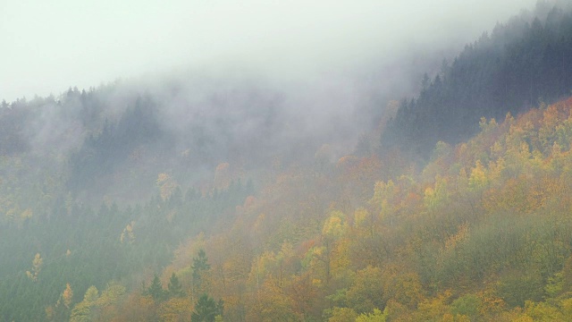
[[[353,156],[288,169],[181,245],[163,291],[105,314],[184,320],[206,293],[229,321],[567,321],[572,98],[480,128],[418,171]]]

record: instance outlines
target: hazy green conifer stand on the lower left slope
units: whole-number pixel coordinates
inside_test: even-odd
[[[126,208],[103,203],[98,210],[58,198],[53,208],[23,223],[0,221],[0,253],[10,258],[0,267],[0,320],[43,320],[46,307],[55,305],[66,284],[77,294],[72,306],[90,285],[104,289],[110,281],[129,284],[145,267],[162,269],[181,242],[213,229],[252,193],[250,184],[240,182],[205,196],[194,189],[183,196],[177,187],[168,199],[156,196]],[[122,239],[126,224],[132,235]],[[41,265],[35,254],[43,258]],[[208,269],[204,253],[197,265]],[[176,275],[166,291],[156,278],[147,292],[156,300],[185,294]],[[55,305],[55,316],[69,317],[70,311],[58,311],[63,308]]]

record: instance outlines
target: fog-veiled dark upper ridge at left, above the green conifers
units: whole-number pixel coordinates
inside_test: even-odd
[[[189,187],[210,181],[221,163],[240,169],[273,157],[299,161],[302,149],[312,157],[318,143],[288,107],[278,89],[191,76],[74,88],[4,102],[0,157],[54,168],[64,190],[85,201],[147,199],[159,173]]]

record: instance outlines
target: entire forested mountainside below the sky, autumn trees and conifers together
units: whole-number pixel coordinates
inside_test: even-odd
[[[0,321],[569,321],[571,35],[539,2],[351,111],[206,76],[3,101]]]

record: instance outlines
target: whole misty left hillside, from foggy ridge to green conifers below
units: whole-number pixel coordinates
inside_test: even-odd
[[[66,320],[90,285],[139,289],[283,168],[325,165],[349,146],[320,148],[346,136],[351,111],[304,107],[320,118],[310,133],[283,95],[190,78],[3,102],[0,320]]]

